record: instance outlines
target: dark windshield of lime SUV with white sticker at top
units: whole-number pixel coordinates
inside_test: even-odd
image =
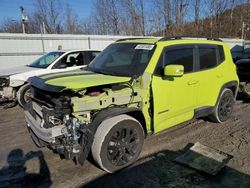
[[[153,44],[111,44],[93,60],[88,70],[115,76],[139,76],[146,69],[153,51]]]

